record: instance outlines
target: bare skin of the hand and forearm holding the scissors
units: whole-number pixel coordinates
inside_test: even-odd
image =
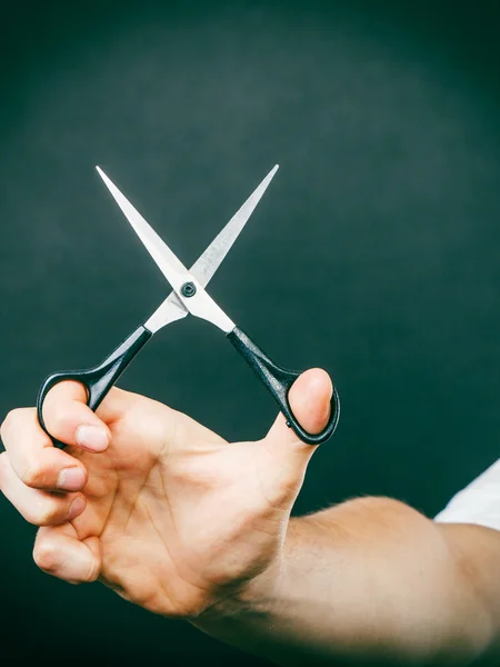
[[[290,392],[319,432],[331,382]],[[439,525],[390,498],[290,519],[314,448],[278,416],[254,442],[228,444],[186,415],[113,389],[94,415],[76,382],[1,429],[0,488],[40,526],[34,560],[73,584],[184,618],[282,665],[339,657],[389,665],[498,657],[500,532]]]

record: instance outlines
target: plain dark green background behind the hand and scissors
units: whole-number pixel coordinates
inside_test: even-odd
[[[99,361],[166,296],[96,163],[190,263],[279,162],[211,293],[277,361],[338,385],[338,431],[296,509],[383,494],[439,511],[499,450],[497,4],[4,3],[1,415],[49,371]],[[120,384],[229,439],[276,414],[193,318]],[[0,520],[3,651],[262,664],[42,575],[33,527],[7,501]]]

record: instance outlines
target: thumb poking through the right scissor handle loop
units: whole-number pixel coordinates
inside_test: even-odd
[[[330,418],[332,392],[330,376],[320,368],[307,370],[293,382],[288,396],[290,407],[296,419],[310,434],[319,434],[327,426]],[[284,456],[298,456],[306,462],[316,449],[303,442],[287,426],[281,414],[278,415],[267,435],[266,442],[273,450],[282,450]]]

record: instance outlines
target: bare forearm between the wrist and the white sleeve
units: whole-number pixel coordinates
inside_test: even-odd
[[[282,665],[468,663],[496,634],[499,554],[496,531],[359,498],[292,519],[280,560],[194,625]]]

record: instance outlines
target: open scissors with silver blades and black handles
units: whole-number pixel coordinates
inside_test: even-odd
[[[213,239],[190,271],[106,176],[102,169],[97,167],[97,170],[173,291],[151,317],[126,338],[101,364],[84,370],[54,372],[46,378],[38,394],[37,412],[40,426],[51,437],[53,444],[57,447],[64,447],[62,442],[50,435],[43,421],[43,401],[54,385],[64,380],[80,382],[87,389],[87,405],[92,410],[97,410],[108,391],[148,340],[162,327],[182,319],[189,313],[208,320],[226,335],[227,339],[250,365],[274,398],[287,419],[287,426],[292,428],[301,440],[309,445],[319,445],[328,440],[336,430],[339,420],[340,404],[337,389],[333,388],[330,418],[326,428],[320,434],[306,431],[296,419],[288,400],[288,392],[300,372],[287,370],[276,365],[249,336],[234,325],[204,289],[260,201],[278,170],[278,165],[271,169],[243,206]]]

